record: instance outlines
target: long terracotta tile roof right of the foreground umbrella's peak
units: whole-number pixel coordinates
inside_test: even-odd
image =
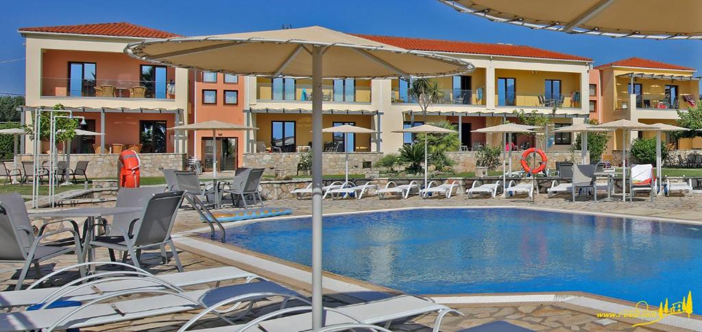
[[[580,60],[592,61],[590,58],[583,58],[577,55],[548,51],[531,46],[511,45],[511,44],[486,44],[472,43],[468,41],[449,41],[441,39],[420,39],[395,36],[375,36],[370,34],[355,34],[365,39],[378,41],[401,48],[417,51],[435,51],[450,53],[470,53],[485,55],[505,55],[524,58],[545,58],[558,60]]]

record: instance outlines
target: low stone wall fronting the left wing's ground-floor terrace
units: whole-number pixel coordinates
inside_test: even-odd
[[[20,154],[17,156],[20,161],[32,161],[31,154]],[[58,160],[63,160],[64,156],[59,155]],[[88,161],[88,178],[117,178],[117,159],[119,154],[71,154],[71,166],[75,168],[78,161]],[[185,154],[176,153],[144,153],[139,154],[141,160],[141,176],[163,176],[159,167],[184,169]],[[48,161],[48,155],[42,154],[39,157],[41,162]],[[21,168],[21,166],[20,166]]]

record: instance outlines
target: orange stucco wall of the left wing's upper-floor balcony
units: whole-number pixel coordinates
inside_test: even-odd
[[[140,86],[140,65],[148,65],[122,53],[42,50],[41,94],[50,96],[67,95],[68,63],[94,62],[98,86],[107,84],[118,88]],[[176,79],[176,69],[166,67],[166,80]],[[168,98],[174,98],[169,95]]]

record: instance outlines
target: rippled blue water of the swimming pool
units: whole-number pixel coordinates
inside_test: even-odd
[[[311,220],[227,229],[227,243],[310,265]],[[585,291],[630,301],[702,294],[702,227],[519,208],[324,218],[324,269],[418,294]]]

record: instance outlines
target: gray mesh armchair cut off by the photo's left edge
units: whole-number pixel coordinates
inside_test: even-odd
[[[0,263],[24,264],[18,278],[15,291],[22,288],[22,281],[27,277],[29,265],[34,265],[37,279],[41,277],[39,263],[44,260],[55,258],[59,255],[76,253],[78,263],[83,263],[81,257],[81,245],[78,237],[77,226],[73,224],[72,229],[61,228],[53,232],[44,233],[45,227],[51,223],[65,223],[66,220],[55,220],[45,223],[39,231],[39,236],[34,236],[32,223],[29,222],[25,200],[20,194],[0,194]],[[57,241],[44,241],[47,237],[58,234],[69,233],[72,238],[72,246],[58,245]],[[85,276],[85,269],[81,267],[81,277]]]

